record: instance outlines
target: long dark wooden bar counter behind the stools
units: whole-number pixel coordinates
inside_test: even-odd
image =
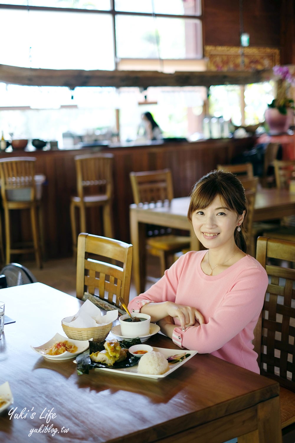
[[[76,193],[75,155],[93,152],[111,152],[114,155],[115,238],[130,241],[129,205],[133,203],[130,171],[168,167],[172,170],[175,197],[185,197],[202,175],[214,169],[218,163],[230,163],[232,158],[253,148],[254,144],[255,139],[252,137],[196,142],[150,142],[141,145],[134,142],[57,151],[1,152],[0,158],[36,157],[36,171],[46,176],[42,194],[46,257],[59,258],[72,254],[69,202],[70,196]],[[100,213],[92,210],[88,220],[88,232],[102,235]],[[25,219],[22,220],[22,225],[19,235],[22,239],[30,238],[31,233],[27,232]]]

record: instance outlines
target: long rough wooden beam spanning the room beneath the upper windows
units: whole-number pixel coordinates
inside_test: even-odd
[[[269,80],[272,70],[261,71],[103,71],[103,70],[53,70],[0,65],[0,82],[29,86],[211,86],[246,85]]]

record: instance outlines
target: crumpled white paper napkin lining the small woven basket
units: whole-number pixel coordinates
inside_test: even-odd
[[[100,308],[86,300],[75,315],[65,317],[62,323],[74,328],[92,328],[107,325],[117,318],[118,310],[107,311],[105,315],[101,315]]]

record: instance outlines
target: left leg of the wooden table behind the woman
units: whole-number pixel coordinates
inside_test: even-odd
[[[133,245],[133,278],[137,294],[146,286],[146,231],[145,224],[138,222],[135,210],[130,208],[130,238]]]

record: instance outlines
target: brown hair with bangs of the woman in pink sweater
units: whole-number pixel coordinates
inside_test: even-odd
[[[192,187],[191,201],[188,208],[188,220],[192,221],[192,214],[197,209],[207,208],[219,195],[220,199],[226,203],[226,206],[241,215],[245,211],[247,215],[247,199],[242,183],[231,172],[211,171],[199,179]],[[244,217],[244,221],[245,221]],[[246,252],[247,242],[245,228],[243,223],[240,226],[241,231],[234,231],[234,241],[238,248]]]

